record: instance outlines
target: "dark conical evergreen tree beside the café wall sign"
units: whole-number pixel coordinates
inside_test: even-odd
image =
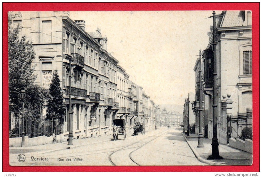
[[[63,93],[60,87],[60,79],[57,70],[53,73],[53,78],[50,84],[50,95],[52,98],[48,100],[46,118],[49,120],[64,119],[65,103],[63,102]]]

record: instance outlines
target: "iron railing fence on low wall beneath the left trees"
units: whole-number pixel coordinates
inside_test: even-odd
[[[24,117],[25,136],[28,138],[38,136],[52,136],[63,133],[63,120],[46,120],[44,117],[30,119]],[[22,117],[9,117],[9,138],[22,137]]]

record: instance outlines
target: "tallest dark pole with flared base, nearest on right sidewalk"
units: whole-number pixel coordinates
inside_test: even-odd
[[[213,11],[213,137],[212,137],[212,155],[208,159],[222,159],[219,155],[219,143],[217,139],[217,72],[216,72],[216,16],[215,11]]]

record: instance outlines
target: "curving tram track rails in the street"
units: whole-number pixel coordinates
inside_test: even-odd
[[[129,153],[128,158],[129,158],[134,164],[141,166],[140,164],[138,164],[137,162],[135,162],[134,158],[132,158],[132,153],[135,152],[135,151],[137,151],[137,150],[140,149],[141,147],[145,146],[145,145],[148,144],[149,142],[155,140],[156,138],[162,136],[163,134],[165,134],[165,133],[168,132],[168,131],[169,131],[169,130],[165,130],[164,132],[160,132],[160,133],[157,133],[156,135],[149,136],[149,137],[147,137],[147,138],[145,138],[145,139],[143,139],[143,140],[139,140],[139,141],[137,141],[137,142],[134,142],[134,143],[129,144],[129,145],[125,146],[125,147],[122,147],[121,149],[118,149],[118,150],[112,152],[112,153],[109,155],[109,157],[108,157],[110,163],[111,163],[112,165],[114,165],[114,166],[117,166],[117,165],[116,165],[116,162],[115,162],[115,163],[113,162],[113,159],[112,159],[112,157],[113,157],[112,155],[113,155],[113,154],[115,154],[115,153],[117,153],[117,152],[120,152],[120,151],[124,151],[124,150],[128,150],[128,149],[136,148],[135,150],[133,150],[132,152]],[[159,134],[160,134],[160,135],[159,135]],[[142,142],[142,143],[143,143],[142,145],[132,147],[134,144],[137,144],[137,143],[139,143],[139,142],[141,142],[141,141],[145,141],[145,140],[147,140],[147,139],[149,139],[149,138],[152,138],[152,137],[154,137],[154,138],[151,139],[150,141],[147,141],[147,142],[145,142],[145,143]],[[130,147],[130,148],[127,148],[127,147]]]

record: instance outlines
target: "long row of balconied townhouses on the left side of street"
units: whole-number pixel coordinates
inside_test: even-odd
[[[107,51],[107,37],[99,29],[86,32],[84,20],[69,16],[68,11],[19,12],[12,19],[14,28],[22,26],[20,35],[33,42],[36,83],[48,89],[58,71],[66,111],[57,141],[68,141],[70,59],[73,139],[109,135],[113,119],[125,119],[129,132],[138,121],[145,129],[160,126],[160,107]]]

